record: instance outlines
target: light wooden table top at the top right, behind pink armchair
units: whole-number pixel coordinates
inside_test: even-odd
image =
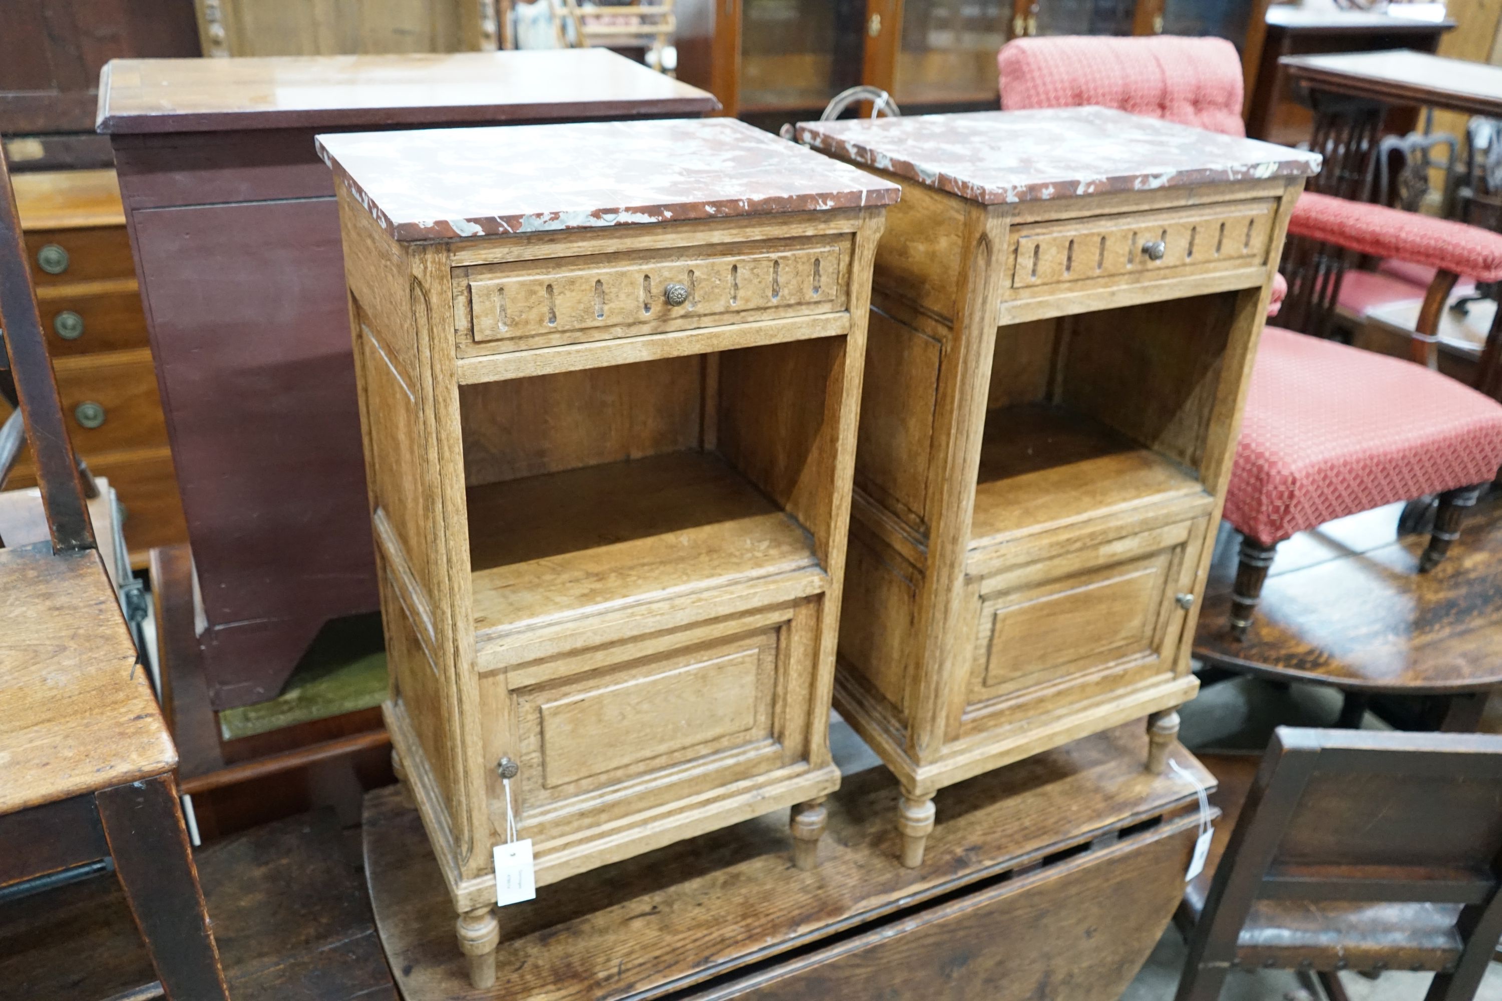
[[[1284,56],[1289,77],[1314,90],[1461,114],[1502,116],[1502,66],[1412,50]]]

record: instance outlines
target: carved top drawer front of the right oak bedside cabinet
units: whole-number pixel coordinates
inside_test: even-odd
[[[1054,287],[1266,264],[1277,204],[1262,198],[1017,227],[1011,284],[1023,291],[1062,291]]]

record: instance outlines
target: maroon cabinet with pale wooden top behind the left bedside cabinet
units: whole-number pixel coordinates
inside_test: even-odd
[[[700,116],[605,50],[116,60],[110,134],[167,405],[213,708],[376,611],[339,221],[317,132]]]

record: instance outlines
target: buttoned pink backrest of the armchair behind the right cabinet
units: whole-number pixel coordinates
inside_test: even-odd
[[[1221,38],[1020,38],[996,65],[1006,111],[1099,105],[1247,135],[1241,56]]]

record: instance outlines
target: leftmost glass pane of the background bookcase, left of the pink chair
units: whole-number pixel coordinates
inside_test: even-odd
[[[745,0],[740,110],[823,108],[861,83],[865,0]]]

